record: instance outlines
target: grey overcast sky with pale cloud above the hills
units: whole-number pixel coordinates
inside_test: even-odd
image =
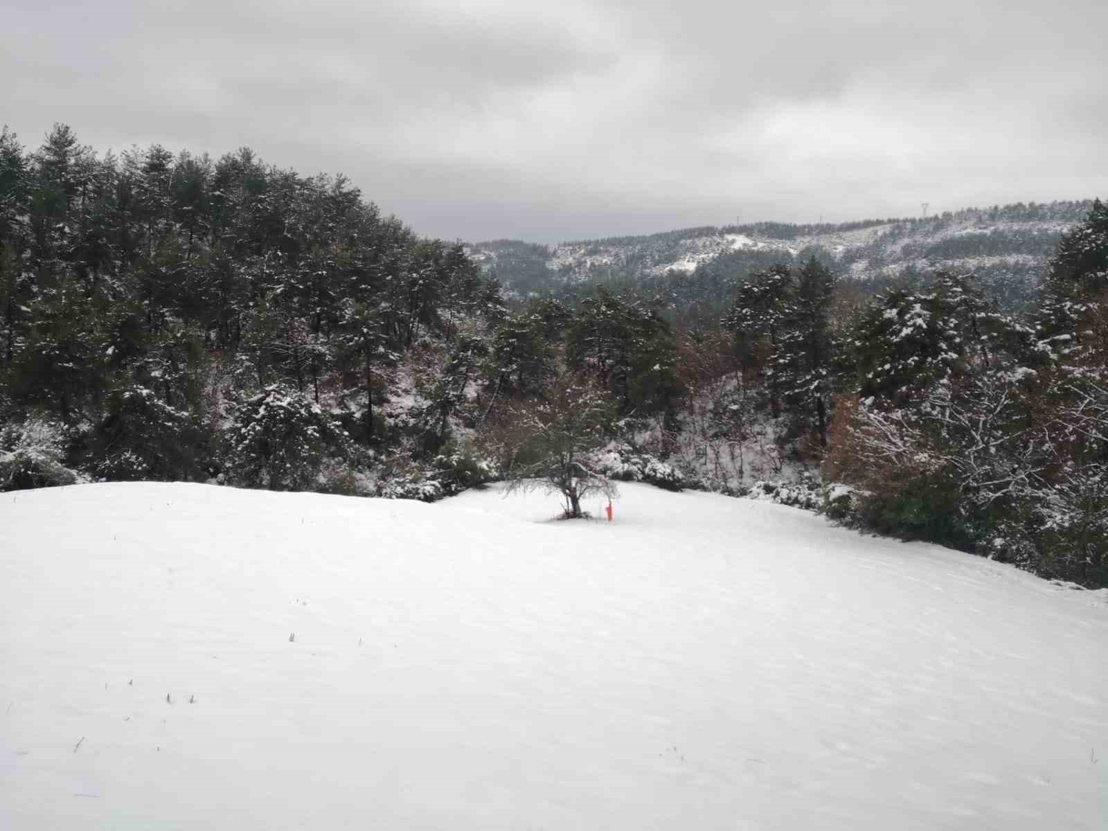
[[[1102,0],[745,6],[14,0],[0,122],[248,145],[450,239],[1108,196]]]

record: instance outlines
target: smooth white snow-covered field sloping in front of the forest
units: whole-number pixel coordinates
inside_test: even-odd
[[[0,496],[3,829],[1094,829],[1108,603],[792,509]]]

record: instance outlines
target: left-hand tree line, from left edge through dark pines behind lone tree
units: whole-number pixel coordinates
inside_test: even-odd
[[[420,493],[565,372],[616,416],[675,412],[673,351],[657,308],[605,293],[510,314],[460,243],[342,176],[0,133],[0,488]]]

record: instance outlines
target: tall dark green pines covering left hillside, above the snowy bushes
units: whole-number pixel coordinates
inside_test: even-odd
[[[226,398],[285,384],[379,443],[398,353],[503,312],[460,244],[381,217],[342,176],[304,178],[246,148],[98,156],[64,125],[33,153],[0,134],[0,417],[116,425],[109,391],[137,386],[217,423]],[[144,452],[93,458],[122,441],[101,439],[84,449],[90,471],[153,470]],[[195,475],[170,468],[148,475]]]

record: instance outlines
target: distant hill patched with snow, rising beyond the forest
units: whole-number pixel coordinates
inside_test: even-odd
[[[925,279],[936,269],[975,271],[1003,307],[1018,308],[1034,294],[1058,238],[1090,206],[1091,199],[1018,203],[902,219],[705,226],[555,246],[497,239],[468,248],[520,298],[615,284],[676,301],[704,300],[752,270],[814,255],[874,288]]]

